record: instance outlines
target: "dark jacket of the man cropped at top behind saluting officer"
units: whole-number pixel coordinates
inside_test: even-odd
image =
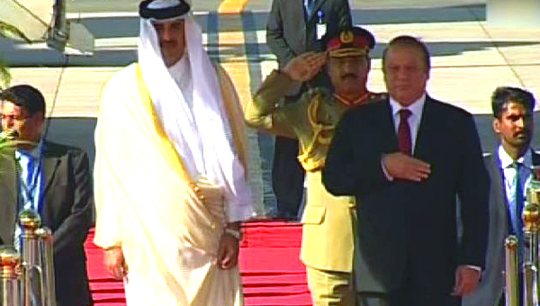
[[[315,31],[318,11],[325,15],[327,32],[336,32],[352,23],[347,0],[315,0],[314,13],[307,23],[304,11],[303,0],[274,0],[272,3],[266,24],[266,43],[277,57],[279,67],[284,67],[291,59],[307,51],[325,49],[322,41],[317,40]],[[310,84],[331,87],[324,71],[313,78]]]

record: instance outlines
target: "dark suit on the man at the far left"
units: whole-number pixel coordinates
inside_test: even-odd
[[[17,218],[14,170],[13,154],[0,157],[0,244],[6,245],[13,245]],[[83,247],[94,205],[88,157],[79,148],[46,142],[43,170],[46,183],[41,224],[53,232],[58,306],[90,305]]]

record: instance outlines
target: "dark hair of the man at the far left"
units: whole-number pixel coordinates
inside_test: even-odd
[[[31,85],[14,85],[4,90],[2,100],[21,106],[29,115],[41,112],[45,115],[45,98],[40,91]]]

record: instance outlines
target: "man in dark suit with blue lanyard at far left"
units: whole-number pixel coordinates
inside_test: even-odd
[[[15,85],[1,101],[2,129],[15,130],[20,144],[0,156],[0,244],[19,244],[18,211],[39,211],[53,233],[58,306],[91,305],[83,247],[94,205],[88,157],[42,137],[45,100],[36,88]]]

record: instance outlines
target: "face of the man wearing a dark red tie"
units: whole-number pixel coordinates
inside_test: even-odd
[[[386,52],[384,83],[396,102],[409,106],[426,92],[429,69],[419,49],[394,46]]]

